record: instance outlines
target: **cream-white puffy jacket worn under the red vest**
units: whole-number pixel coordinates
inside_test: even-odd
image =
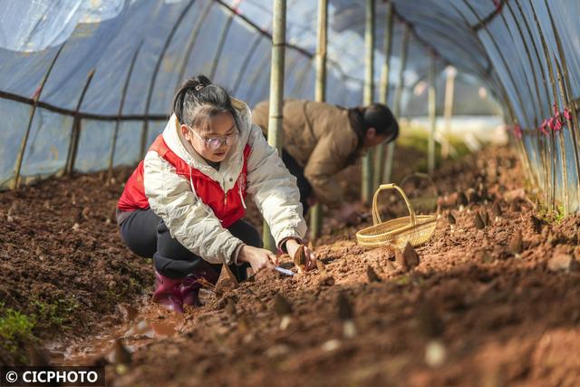
[[[276,246],[280,248],[289,237],[302,239],[306,224],[295,177],[285,168],[277,150],[268,145],[260,128],[252,125],[246,103],[232,102],[238,113],[240,138],[219,170],[210,167],[182,137],[175,115],[163,131],[163,140],[190,167],[217,181],[224,192],[236,184],[243,167],[243,151],[249,145],[247,193],[270,226]],[[172,237],[209,263],[235,261],[243,242],[221,226],[212,209],[198,198],[191,181],[176,174],[174,167],[152,150],[145,157],[143,176],[150,208],[163,219]]]

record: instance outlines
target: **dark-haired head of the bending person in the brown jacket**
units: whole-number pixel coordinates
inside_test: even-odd
[[[382,142],[389,143],[399,137],[399,123],[389,108],[382,103],[372,103],[362,112],[364,124],[364,148],[372,148]]]

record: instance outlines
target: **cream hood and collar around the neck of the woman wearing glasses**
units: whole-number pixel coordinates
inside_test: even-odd
[[[236,145],[228,152],[227,157],[220,163],[219,170],[212,168],[206,160],[193,149],[188,140],[185,140],[180,130],[180,123],[175,114],[169,118],[163,130],[163,140],[181,160],[184,160],[190,167],[198,169],[210,179],[217,181],[224,191],[231,189],[242,171],[244,165],[244,148],[252,128],[252,117],[247,104],[232,98],[232,105],[237,112],[237,124],[239,126],[240,137]],[[228,178],[232,178],[229,181]]]

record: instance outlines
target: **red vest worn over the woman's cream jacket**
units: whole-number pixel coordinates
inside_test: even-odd
[[[247,181],[247,158],[250,154],[250,147],[246,145],[244,148],[244,166],[237,177],[234,187],[224,192],[219,183],[208,176],[201,173],[198,169],[189,167],[189,164],[181,160],[163,140],[163,136],[159,135],[149,150],[154,150],[161,158],[168,161],[175,169],[179,176],[189,181],[189,174],[193,180],[193,187],[196,190],[198,198],[214,211],[216,217],[221,221],[223,227],[229,227],[245,214],[244,206],[242,205],[242,198],[239,196],[239,188],[241,186],[242,195],[246,198],[246,181]],[[133,171],[131,177],[125,184],[125,189],[117,208],[121,211],[134,211],[136,209],[148,209],[149,201],[145,196],[145,186],[143,183],[143,161],[140,162],[137,169]]]

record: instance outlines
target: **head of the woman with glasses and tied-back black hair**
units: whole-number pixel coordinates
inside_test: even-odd
[[[185,140],[206,160],[226,159],[239,138],[237,115],[229,94],[204,75],[181,85],[173,99],[173,112]]]

